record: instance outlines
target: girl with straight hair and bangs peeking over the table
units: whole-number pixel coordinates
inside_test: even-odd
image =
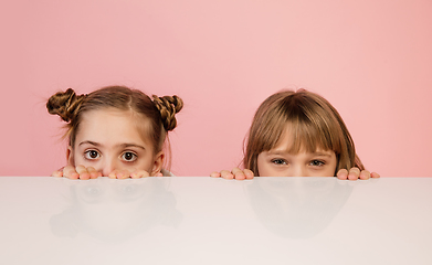
[[[365,169],[331,104],[305,89],[283,91],[261,104],[246,139],[243,167],[244,170],[213,172],[211,177],[380,177]]]

